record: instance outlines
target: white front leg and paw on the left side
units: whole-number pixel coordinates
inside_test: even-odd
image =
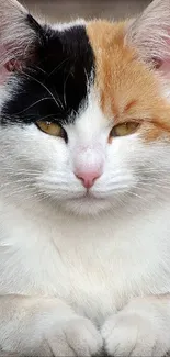
[[[101,352],[103,341],[98,328],[63,301],[26,297],[9,300],[10,304],[3,302],[4,317],[0,322],[0,356],[91,357]]]

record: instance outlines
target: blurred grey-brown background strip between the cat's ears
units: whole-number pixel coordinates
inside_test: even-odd
[[[20,0],[34,14],[52,22],[76,18],[124,19],[141,11],[151,0]],[[163,0],[162,0],[163,1]]]

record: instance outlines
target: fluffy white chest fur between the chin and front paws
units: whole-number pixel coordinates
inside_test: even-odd
[[[1,293],[60,297],[100,321],[133,295],[170,291],[166,204],[122,219],[39,215],[13,205],[7,212],[2,205]]]

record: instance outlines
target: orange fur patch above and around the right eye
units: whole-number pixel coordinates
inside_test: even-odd
[[[154,70],[125,45],[126,22],[92,21],[87,33],[95,56],[95,88],[105,116],[114,124],[139,121],[147,141],[170,135],[170,105],[160,96]],[[144,122],[144,125],[143,125]]]

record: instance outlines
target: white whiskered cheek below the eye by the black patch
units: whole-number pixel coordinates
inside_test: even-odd
[[[38,192],[60,201],[83,191],[71,170],[69,150],[63,138],[47,135],[32,124],[2,129],[0,142],[1,175],[4,174],[10,185],[21,188],[19,197],[19,193]]]

